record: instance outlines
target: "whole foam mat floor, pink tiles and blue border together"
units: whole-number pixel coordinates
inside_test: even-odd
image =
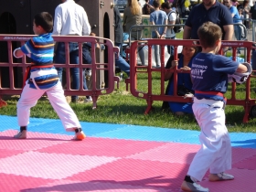
[[[72,141],[59,120],[31,118],[16,140],[16,117],[0,115],[2,192],[181,191],[199,149],[197,131],[110,123],[81,123],[87,138]],[[211,192],[256,191],[256,134],[230,133],[232,181],[200,182]]]

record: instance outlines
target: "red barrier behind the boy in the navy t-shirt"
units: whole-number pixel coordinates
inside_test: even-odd
[[[175,59],[177,59],[177,47],[178,46],[195,46],[193,40],[173,40],[173,39],[148,39],[144,41],[146,46],[148,46],[148,66],[137,66],[137,48],[138,48],[138,42],[141,41],[135,41],[131,45],[131,48],[129,48],[129,57],[130,57],[130,79],[126,80],[126,88],[128,88],[128,84],[130,83],[130,91],[133,94],[134,97],[138,97],[141,99],[146,100],[147,102],[147,108],[145,110],[145,114],[150,112],[152,110],[152,104],[154,101],[177,101],[177,102],[192,102],[192,98],[184,98],[182,96],[176,95],[176,82],[177,82],[177,73],[179,72],[188,72],[190,71],[182,71],[180,69],[165,69],[165,58],[164,58],[164,49],[166,45],[172,45],[175,47]],[[247,49],[247,57],[245,61],[251,63],[251,50],[252,50],[252,43],[250,41],[223,41],[222,47],[230,47],[233,49],[233,55],[232,59],[236,59],[236,49],[238,47],[246,48]],[[152,67],[152,46],[153,45],[159,45],[161,48],[161,68],[155,69]],[[219,54],[222,54],[222,49],[220,49]],[[174,72],[174,95],[165,95],[165,71],[173,71]],[[152,73],[153,72],[160,72],[160,93],[153,93],[153,78]],[[253,71],[255,74],[255,71]],[[138,91],[138,74],[140,73],[147,73],[148,81],[147,81],[147,87],[148,89],[146,91]],[[251,77],[246,81],[245,87],[246,87],[246,94],[244,100],[236,99],[236,83],[231,83],[231,97],[228,98],[227,104],[228,105],[238,105],[244,107],[244,116],[243,116],[243,123],[247,123],[250,118],[250,112],[253,112],[253,115],[255,116],[256,111],[256,105],[255,105],[255,99],[251,99],[251,78],[255,78],[255,75],[251,74]]]

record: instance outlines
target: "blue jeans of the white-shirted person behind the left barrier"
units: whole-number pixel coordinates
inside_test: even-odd
[[[69,62],[70,64],[79,64],[79,45],[78,43],[69,43]],[[55,63],[66,63],[65,43],[59,42],[55,55]],[[63,68],[56,68],[58,70],[59,81],[62,83]],[[71,89],[80,89],[80,69],[71,68],[70,74],[72,76]],[[85,79],[85,70],[82,71],[83,76],[83,89],[88,90]],[[78,100],[78,96],[71,96],[71,100]]]

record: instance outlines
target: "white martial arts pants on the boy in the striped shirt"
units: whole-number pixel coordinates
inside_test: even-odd
[[[40,99],[45,92],[47,92],[48,100],[55,112],[59,115],[59,119],[66,131],[74,131],[72,128],[80,128],[81,126],[77,115],[73,112],[69,103],[66,101],[60,82],[48,90],[31,89],[29,88],[29,84],[26,82],[20,99],[16,105],[18,125],[27,126],[29,123],[30,108],[37,104],[37,100]]]

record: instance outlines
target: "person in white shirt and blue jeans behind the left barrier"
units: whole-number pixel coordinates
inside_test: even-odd
[[[61,0],[62,4],[55,9],[53,35],[63,36],[89,36],[91,26],[84,8],[75,3],[74,0]],[[79,64],[79,45],[76,42],[69,42],[70,64]],[[55,53],[55,63],[66,63],[65,44],[59,42]],[[58,69],[59,80],[62,81],[62,68]],[[80,69],[71,68],[72,90],[80,89]],[[84,77],[84,75],[83,75]],[[83,88],[87,90],[86,81],[83,80]],[[71,97],[72,102],[78,101],[78,96]]]

